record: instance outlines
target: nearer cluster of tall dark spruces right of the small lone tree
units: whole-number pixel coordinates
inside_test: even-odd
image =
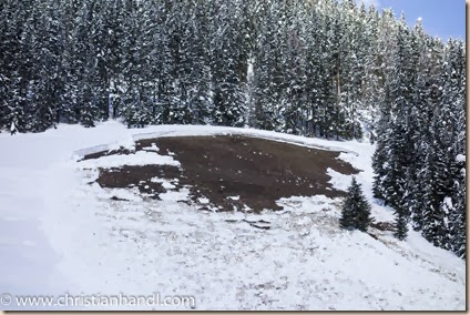
[[[398,238],[410,220],[433,245],[463,257],[463,43],[443,45],[420,23],[409,30],[400,22],[396,33],[395,69],[376,128],[374,194],[395,207]]]

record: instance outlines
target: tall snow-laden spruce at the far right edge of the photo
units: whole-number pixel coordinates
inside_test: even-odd
[[[453,222],[461,220],[458,213],[462,213],[462,210],[456,209],[460,199],[457,187],[461,190],[464,185],[462,165],[457,158],[464,154],[464,136],[461,136],[464,134],[461,123],[461,118],[464,116],[464,58],[462,53],[454,54],[454,42],[449,41],[441,78],[442,98],[439,106],[435,109],[431,123],[431,159],[435,172],[430,176],[431,204],[423,210],[422,226],[422,235],[436,246],[445,248],[451,248],[452,238],[460,237],[452,225],[460,225]]]

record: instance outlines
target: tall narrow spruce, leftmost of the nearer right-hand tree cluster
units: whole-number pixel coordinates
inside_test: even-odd
[[[397,32],[397,50],[394,55],[395,70],[392,71],[386,89],[385,109],[389,108],[390,113],[382,110],[382,114],[389,115],[387,130],[382,134],[386,141],[379,143],[377,158],[386,159],[384,163],[375,162],[376,195],[382,195],[385,201],[391,206],[403,207],[403,194],[407,191],[407,174],[412,167],[411,138],[408,128],[410,126],[411,109],[416,92],[416,52],[412,37],[405,18],[402,17]],[[384,116],[385,118],[385,116]],[[381,162],[381,161],[380,161]]]

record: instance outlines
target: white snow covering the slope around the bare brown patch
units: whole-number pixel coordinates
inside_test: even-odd
[[[117,122],[0,133],[0,294],[13,297],[0,308],[21,308],[14,296],[28,294],[156,292],[194,296],[196,309],[464,309],[464,261],[415,232],[399,242],[389,232],[371,231],[376,240],[343,231],[338,200],[293,196],[278,201],[284,211],[258,215],[204,212],[177,203],[187,196],[184,190],[147,202],[130,190],[88,184],[98,166],[178,165],[156,149],[76,162],[103,149],[131,148],[139,139],[215,133],[341,150],[340,159],[362,170],[356,176],[376,220],[394,219],[372,199],[368,143],[214,126],[129,130]],[[335,187],[349,185],[350,176],[328,174]],[[270,230],[248,223],[260,220]]]

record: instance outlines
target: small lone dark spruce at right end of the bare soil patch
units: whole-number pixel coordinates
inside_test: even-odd
[[[370,204],[362,194],[360,184],[356,181],[356,177],[352,177],[347,196],[343,202],[339,225],[343,228],[357,228],[361,232],[366,232],[371,222]]]

